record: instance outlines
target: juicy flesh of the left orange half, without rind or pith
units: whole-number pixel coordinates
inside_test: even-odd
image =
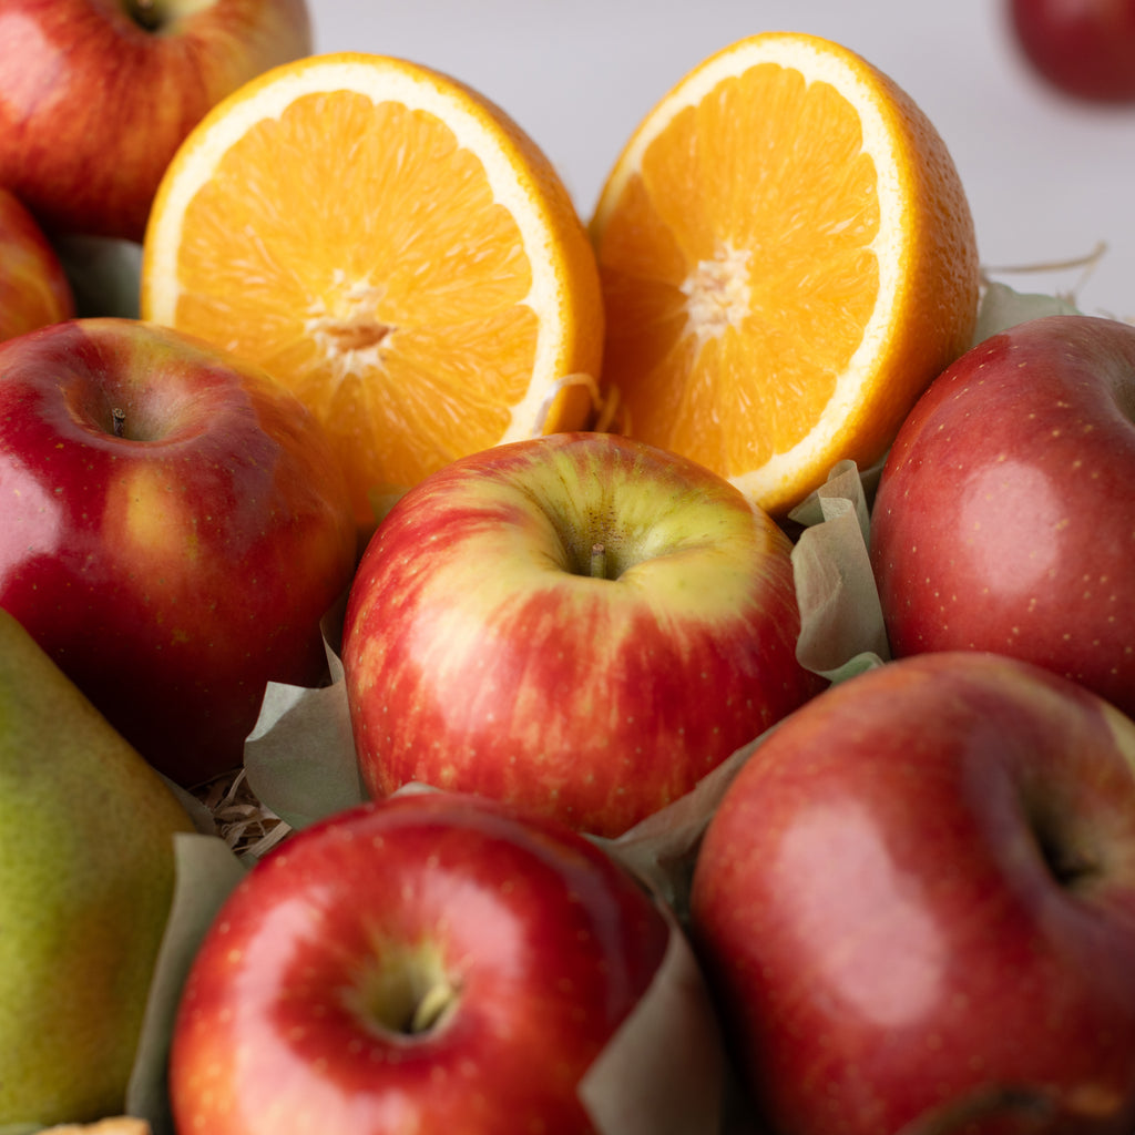
[[[449,127],[398,102],[309,94],[250,129],[187,207],[178,270],[178,327],[291,386],[371,493],[496,443],[531,381],[519,228]]]

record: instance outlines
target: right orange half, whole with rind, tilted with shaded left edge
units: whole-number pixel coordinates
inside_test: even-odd
[[[852,51],[770,32],[647,115],[591,220],[624,429],[774,514],[883,455],[968,345],[980,266],[944,142]]]

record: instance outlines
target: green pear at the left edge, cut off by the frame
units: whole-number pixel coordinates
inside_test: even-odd
[[[0,1126],[123,1111],[174,896],[161,776],[0,609]]]

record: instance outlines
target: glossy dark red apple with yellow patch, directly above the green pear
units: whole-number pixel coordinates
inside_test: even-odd
[[[355,539],[260,370],[125,319],[0,344],[0,606],[182,784],[241,763],[269,680],[322,679]]]

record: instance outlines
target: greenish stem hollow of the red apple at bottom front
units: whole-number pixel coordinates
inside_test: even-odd
[[[436,950],[385,949],[348,991],[348,1008],[382,1033],[415,1037],[440,1028],[461,1000]]]

